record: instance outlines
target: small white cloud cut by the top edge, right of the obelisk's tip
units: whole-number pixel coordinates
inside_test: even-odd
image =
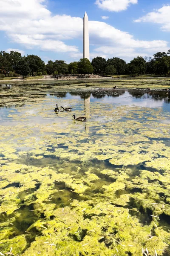
[[[127,9],[130,4],[138,3],[138,0],[96,0],[95,4],[109,12],[121,12]]]

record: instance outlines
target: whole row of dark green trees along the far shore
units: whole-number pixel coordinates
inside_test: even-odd
[[[90,62],[87,58],[67,64],[65,61],[56,60],[45,62],[37,55],[22,56],[20,52],[10,53],[0,51],[0,76],[42,76],[42,75],[143,75],[170,73],[170,50],[157,52],[152,57],[138,56],[130,63],[123,59],[113,57],[106,60],[102,57],[93,58]]]

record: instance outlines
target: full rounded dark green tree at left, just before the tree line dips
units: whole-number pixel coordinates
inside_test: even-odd
[[[45,68],[45,63],[42,61],[40,57],[37,55],[27,55],[26,61],[31,69],[32,76],[35,72],[35,75],[37,76],[37,72],[43,72]]]

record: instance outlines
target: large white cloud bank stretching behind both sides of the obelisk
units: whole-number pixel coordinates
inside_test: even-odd
[[[135,1],[131,0],[128,3],[135,3]],[[0,9],[0,30],[6,32],[11,42],[27,49],[68,52],[68,58],[81,58],[82,53],[74,45],[73,40],[82,42],[82,18],[52,15],[44,4],[44,0],[6,0],[5,4],[1,5],[3,11]],[[35,7],[39,7],[36,13]],[[137,55],[148,56],[169,49],[166,41],[136,40],[128,32],[116,29],[105,22],[89,21],[89,34],[90,43],[94,46],[91,57],[118,56],[130,60]]]

